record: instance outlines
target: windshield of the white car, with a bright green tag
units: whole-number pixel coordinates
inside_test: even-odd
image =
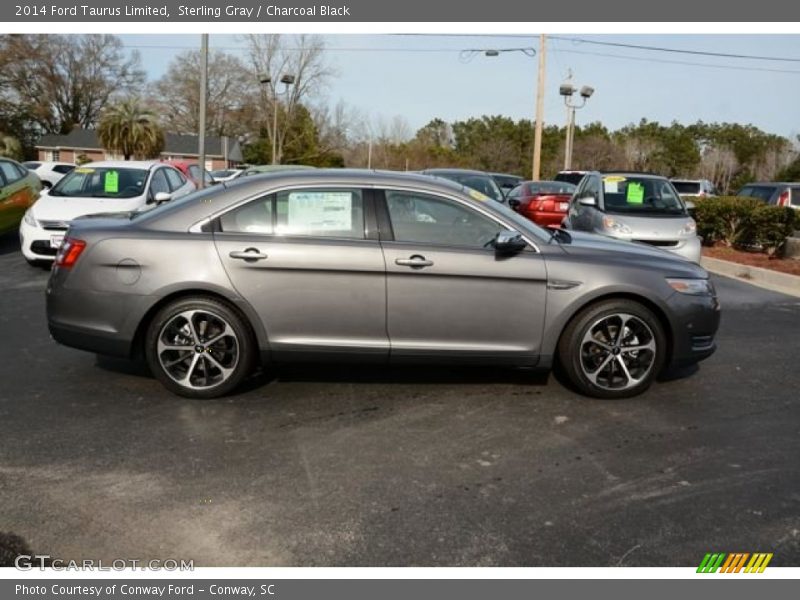
[[[148,171],[121,167],[78,167],[50,190],[51,196],[135,198],[144,194]]]

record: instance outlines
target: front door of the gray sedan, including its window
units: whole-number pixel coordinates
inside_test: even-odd
[[[532,247],[498,256],[489,244],[510,228],[464,201],[391,189],[377,201],[391,359],[533,364],[545,311],[542,256]]]

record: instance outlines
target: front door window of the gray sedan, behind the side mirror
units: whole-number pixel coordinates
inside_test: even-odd
[[[388,190],[386,205],[398,242],[485,248],[505,228],[453,200]]]

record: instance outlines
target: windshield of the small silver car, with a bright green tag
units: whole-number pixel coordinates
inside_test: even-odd
[[[603,204],[609,214],[686,214],[686,207],[672,184],[655,177],[605,175]]]

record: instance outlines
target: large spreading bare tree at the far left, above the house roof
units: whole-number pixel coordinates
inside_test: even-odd
[[[138,53],[112,35],[0,37],[0,97],[27,107],[45,133],[95,126],[114,95],[144,81]]]

